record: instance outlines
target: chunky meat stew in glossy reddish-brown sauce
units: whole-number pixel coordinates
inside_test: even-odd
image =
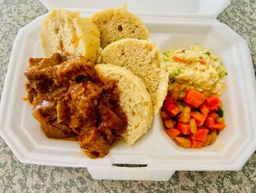
[[[29,59],[25,72],[33,116],[49,138],[78,140],[90,157],[104,157],[127,128],[117,83],[83,57],[55,53]]]

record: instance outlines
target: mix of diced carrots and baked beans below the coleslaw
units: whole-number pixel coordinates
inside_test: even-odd
[[[210,91],[181,89],[169,91],[161,110],[166,132],[183,148],[201,148],[213,144],[225,128],[219,95]]]

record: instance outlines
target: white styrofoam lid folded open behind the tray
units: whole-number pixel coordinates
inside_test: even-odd
[[[230,0],[41,0],[41,3],[49,11],[63,8],[84,14],[109,7],[121,7],[126,3],[129,11],[139,17],[215,19],[230,4]]]

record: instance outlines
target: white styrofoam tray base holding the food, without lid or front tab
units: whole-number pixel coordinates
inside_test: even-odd
[[[29,57],[43,57],[40,33],[43,19],[38,17],[19,31],[13,46],[1,101],[1,136],[24,163],[53,166],[111,166],[147,164],[161,170],[239,170],[255,150],[255,82],[249,49],[237,33],[215,20],[147,20],[151,40],[162,52],[173,47],[200,44],[223,59],[227,84],[221,100],[227,128],[217,141],[201,150],[177,146],[165,133],[159,114],[152,128],[134,146],[117,142],[105,158],[91,160],[77,142],[46,138],[31,114],[25,97],[25,76]],[[250,105],[249,105],[250,102]],[[8,109],[6,111],[6,109]],[[145,169],[146,170],[146,169]]]

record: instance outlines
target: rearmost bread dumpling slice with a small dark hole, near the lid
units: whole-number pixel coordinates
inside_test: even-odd
[[[91,16],[101,33],[101,48],[124,38],[148,39],[146,25],[126,5],[121,8],[103,9]]]

